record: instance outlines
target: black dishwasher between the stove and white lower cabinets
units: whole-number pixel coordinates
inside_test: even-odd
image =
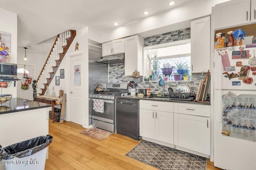
[[[116,133],[139,140],[139,100],[116,99]]]

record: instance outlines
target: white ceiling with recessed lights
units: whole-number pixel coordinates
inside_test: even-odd
[[[50,52],[56,35],[68,29],[90,26],[98,31],[114,29],[193,0],[1,0],[0,8],[18,14],[18,49]],[[143,12],[148,11],[148,15]],[[113,23],[117,22],[115,26]]]

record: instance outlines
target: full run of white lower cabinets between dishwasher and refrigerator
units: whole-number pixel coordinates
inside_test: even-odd
[[[140,100],[142,139],[210,155],[210,106]],[[170,145],[171,144],[171,145]]]

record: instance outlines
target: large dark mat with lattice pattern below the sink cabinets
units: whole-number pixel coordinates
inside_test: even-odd
[[[207,159],[149,141],[141,141],[126,156],[161,170],[206,170]]]

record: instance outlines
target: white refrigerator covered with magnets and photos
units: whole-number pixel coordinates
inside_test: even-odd
[[[218,168],[256,170],[256,110],[251,106],[256,105],[255,53],[256,45],[215,50],[214,166]]]

